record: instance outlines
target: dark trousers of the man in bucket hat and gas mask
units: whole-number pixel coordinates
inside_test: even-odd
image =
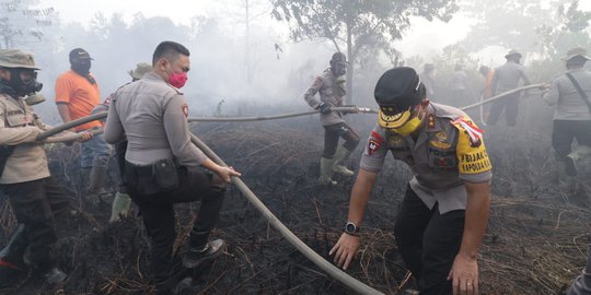
[[[53,177],[0,185],[0,189],[9,197],[19,223],[25,226],[32,267],[42,271],[54,267],[55,217],[68,212],[69,196]]]

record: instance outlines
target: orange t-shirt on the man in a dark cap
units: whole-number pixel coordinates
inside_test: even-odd
[[[86,78],[69,70],[56,80],[56,104],[59,103],[69,105],[70,119],[76,120],[86,117],[101,103],[99,84],[91,84]],[[101,126],[103,126],[101,121],[92,121],[76,127],[76,131]]]

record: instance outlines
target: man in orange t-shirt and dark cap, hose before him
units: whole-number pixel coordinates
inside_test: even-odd
[[[69,122],[91,115],[92,109],[101,103],[101,92],[94,75],[90,73],[91,60],[89,52],[82,48],[70,51],[71,70],[62,73],[56,81],[56,104],[63,122]],[[83,131],[102,127],[101,121],[92,121],[79,127]],[[81,166],[84,178],[89,180],[89,191],[101,196],[106,176],[111,148],[103,135],[82,143]]]

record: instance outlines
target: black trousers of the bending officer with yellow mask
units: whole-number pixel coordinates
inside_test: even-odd
[[[406,267],[417,279],[421,295],[452,294],[448,274],[460,251],[464,233],[464,210],[439,214],[406,188],[394,236]]]

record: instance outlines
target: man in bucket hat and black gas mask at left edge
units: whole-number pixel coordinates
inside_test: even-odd
[[[24,274],[23,255],[28,247],[33,272],[57,284],[66,274],[51,255],[57,239],[54,217],[69,211],[69,198],[49,175],[43,144],[35,141],[48,127],[24,101],[42,87],[36,81],[37,70],[32,55],[0,50],[0,191],[9,197],[21,223],[0,252],[0,268],[2,280],[13,279],[4,272],[7,269]]]

